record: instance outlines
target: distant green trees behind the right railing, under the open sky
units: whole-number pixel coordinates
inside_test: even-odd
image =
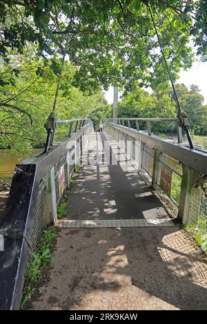
[[[197,85],[190,85],[190,90],[184,83],[175,85],[181,107],[188,112],[191,120],[190,129],[197,135],[207,135],[207,105],[204,97],[199,93]],[[176,117],[177,107],[172,88],[165,92],[148,92],[139,89],[124,95],[119,103],[119,117]],[[146,129],[146,123],[140,123]],[[135,127],[135,125],[134,125]],[[152,131],[155,133],[176,132],[175,123],[152,122]]]

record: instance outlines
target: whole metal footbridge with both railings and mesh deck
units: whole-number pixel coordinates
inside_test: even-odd
[[[146,125],[142,130],[140,121]],[[96,133],[90,119],[57,121],[67,125],[67,136],[56,140],[55,133],[49,134],[44,152],[16,166],[1,224],[2,309],[19,309],[30,256],[48,225],[188,223],[206,233],[207,153],[184,145],[178,124],[177,141],[156,136],[152,121],[177,123],[177,119],[110,119],[103,132]],[[57,207],[66,196],[66,214],[57,219]]]

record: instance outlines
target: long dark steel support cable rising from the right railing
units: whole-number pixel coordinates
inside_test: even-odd
[[[162,56],[163,56],[163,58],[164,58],[164,62],[165,62],[165,65],[166,65],[166,70],[167,70],[167,72],[168,72],[168,76],[169,76],[169,78],[170,78],[170,83],[171,83],[171,85],[172,85],[172,90],[173,90],[173,92],[174,92],[174,94],[175,94],[175,101],[176,101],[176,103],[177,103],[177,108],[178,108],[177,118],[178,118],[178,120],[179,120],[179,126],[180,126],[181,128],[184,128],[184,130],[185,130],[185,132],[186,132],[186,135],[187,135],[187,138],[188,138],[189,146],[190,146],[191,149],[194,150],[193,141],[192,141],[192,139],[191,139],[190,131],[189,131],[189,128],[190,128],[190,118],[188,117],[187,112],[181,108],[181,105],[180,105],[179,99],[178,99],[178,97],[177,97],[177,92],[176,92],[176,89],[175,89],[175,85],[174,85],[174,82],[173,82],[173,80],[172,80],[172,76],[171,76],[171,73],[170,73],[170,69],[169,69],[169,67],[168,67],[168,62],[167,62],[167,60],[166,60],[166,56],[165,56],[165,54],[164,54],[164,49],[163,49],[163,47],[162,47],[162,45],[161,45],[161,39],[160,39],[160,37],[159,37],[159,33],[158,33],[158,31],[157,31],[157,27],[156,27],[156,24],[155,24],[155,19],[153,18],[152,11],[151,11],[151,9],[150,9],[150,5],[149,5],[148,1],[146,1],[146,6],[147,6],[147,8],[148,8],[148,10],[149,10],[149,12],[150,12],[150,17],[151,17],[151,20],[152,20],[152,24],[153,24],[153,26],[154,26],[154,28],[155,28],[155,33],[156,33],[156,35],[157,35],[157,40],[158,40],[158,43],[159,43],[159,48],[160,48],[160,50],[161,50],[161,54],[162,54]]]

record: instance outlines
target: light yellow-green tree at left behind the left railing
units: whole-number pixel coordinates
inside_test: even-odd
[[[13,83],[1,86],[0,92],[0,146],[16,151],[30,150],[44,145],[46,130],[44,123],[51,112],[57,83],[57,75],[48,66],[43,74],[36,74],[43,62],[27,55],[13,57],[18,62],[19,74],[13,75]],[[84,95],[72,86],[76,68],[66,63],[57,103],[57,119],[88,118],[95,108],[103,109],[101,90],[92,96]],[[9,65],[2,73],[8,74]],[[95,115],[95,113],[94,113]],[[68,134],[68,125],[60,125],[57,137]]]

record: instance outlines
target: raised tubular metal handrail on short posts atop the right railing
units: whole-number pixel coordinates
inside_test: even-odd
[[[158,121],[158,122],[168,122],[168,123],[176,123],[177,125],[177,142],[178,143],[182,143],[183,139],[182,139],[182,132],[181,132],[181,127],[179,127],[179,121],[177,118],[159,118],[159,117],[155,117],[155,118],[112,118],[112,119],[108,119],[108,121],[106,121],[106,123],[115,123],[117,125],[122,125],[128,128],[131,128],[131,124],[130,121],[135,121],[136,124],[136,128],[139,131],[139,121],[146,121],[146,126],[147,126],[147,130],[148,130],[148,135],[150,136],[152,134],[151,131],[151,122],[152,121]],[[126,123],[127,125],[126,125]],[[104,123],[104,125],[106,125],[106,123]]]

